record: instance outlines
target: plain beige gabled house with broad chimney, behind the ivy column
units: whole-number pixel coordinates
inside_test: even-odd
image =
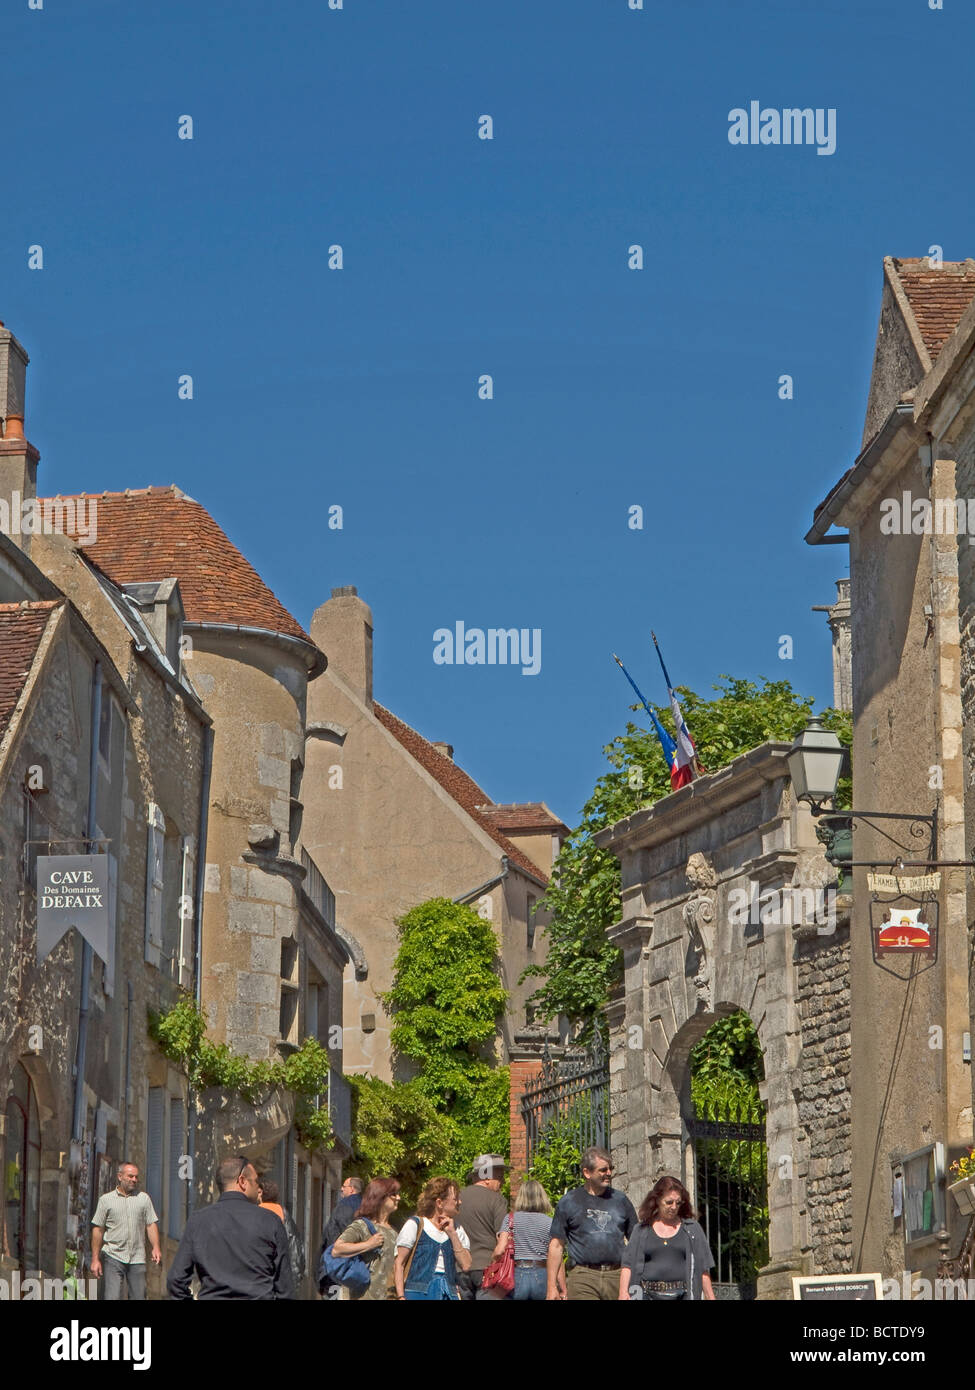
[[[355,588],[332,591],[312,619],[328,670],[309,688],[305,842],[338,898],[355,967],[345,984],[345,1065],[392,1076],[395,920],[428,898],[472,903],[495,924],[510,990],[499,1038],[505,1059],[534,986],[522,970],[544,959],[535,903],[566,827],[544,803],[495,805],[431,742],[373,699],[373,616]]]

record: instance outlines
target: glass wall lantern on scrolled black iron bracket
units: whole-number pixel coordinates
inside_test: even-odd
[[[893,810],[833,810],[828,812],[823,802],[833,801],[836,784],[843,770],[846,749],[830,728],[823,728],[818,719],[811,719],[798,735],[789,753],[789,774],[793,780],[798,801],[809,803],[809,810],[816,820],[816,838],[826,845],[826,859],[832,865],[843,869],[854,867],[853,859],[853,823],[862,820],[871,824],[873,820],[905,820],[910,824],[908,834],[912,840],[924,840],[925,830],[930,835],[929,858],[921,860],[926,865],[937,862],[937,808],[929,815],[901,815]],[[873,826],[879,834],[889,840],[899,849],[911,851],[912,845],[904,845],[889,835],[880,826]],[[876,869],[889,860],[871,860],[855,867]],[[903,863],[901,859],[897,860]],[[954,860],[953,860],[954,862]]]

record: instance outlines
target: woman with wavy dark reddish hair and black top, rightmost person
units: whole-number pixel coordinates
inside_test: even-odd
[[[645,1298],[673,1302],[712,1300],[715,1259],[708,1238],[694,1220],[690,1193],[676,1177],[654,1183],[638,1212],[619,1272],[620,1301]]]

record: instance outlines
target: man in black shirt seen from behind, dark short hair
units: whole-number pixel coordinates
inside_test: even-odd
[[[257,1172],[249,1158],[225,1158],[217,1168],[220,1197],[192,1212],[172,1262],[170,1298],[291,1298],[293,1283],[288,1237],[274,1212],[259,1205]]]

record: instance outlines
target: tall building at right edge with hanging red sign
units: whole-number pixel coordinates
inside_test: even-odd
[[[972,1143],[974,343],[975,261],[885,260],[861,452],[807,535],[850,545],[854,809],[937,817],[933,853],[925,824],[854,821],[853,1258],[899,1279],[965,1250],[971,1275],[975,1238],[943,1175]],[[940,872],[936,959],[900,966],[865,877],[899,858]]]

